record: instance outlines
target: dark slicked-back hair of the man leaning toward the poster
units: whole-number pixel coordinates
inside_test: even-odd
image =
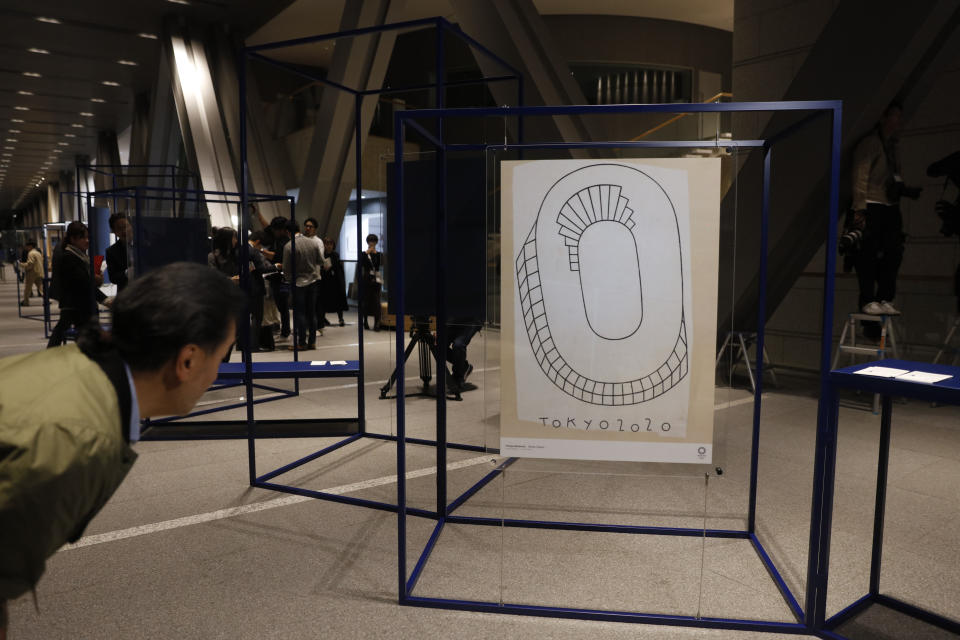
[[[134,371],[155,371],[188,344],[212,352],[243,305],[243,292],[220,272],[174,262],[133,280],[117,295],[109,343]]]

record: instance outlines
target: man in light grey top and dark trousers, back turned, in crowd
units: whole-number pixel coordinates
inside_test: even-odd
[[[317,288],[316,283],[323,264],[318,243],[300,234],[299,226],[290,221],[293,240],[283,248],[283,277],[293,289],[293,312],[297,317],[297,346],[299,349],[317,348]],[[296,262],[292,247],[296,247]],[[296,274],[296,280],[294,280]],[[320,331],[321,335],[323,331]]]

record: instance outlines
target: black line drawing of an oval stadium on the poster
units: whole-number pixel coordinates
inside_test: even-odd
[[[557,180],[516,258],[544,375],[594,405],[638,404],[676,387],[688,371],[684,250],[673,203],[643,171],[598,163]]]

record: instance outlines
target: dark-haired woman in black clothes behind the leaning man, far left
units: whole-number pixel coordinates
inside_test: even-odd
[[[95,320],[99,313],[97,303],[109,304],[100,291],[103,276],[95,276],[90,270],[89,248],[87,225],[74,220],[67,225],[64,241],[53,252],[50,297],[60,301],[60,320],[50,334],[48,349],[66,342],[70,327],[79,331]]]

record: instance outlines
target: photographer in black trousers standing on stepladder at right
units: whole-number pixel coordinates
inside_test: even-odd
[[[853,155],[854,226],[863,230],[855,261],[859,306],[863,313],[871,315],[900,313],[893,306],[903,259],[900,198],[916,199],[920,195],[920,189],[904,186],[900,177],[897,145],[902,118],[900,104],[890,103],[876,128],[860,141]],[[879,327],[875,328],[879,337]]]

